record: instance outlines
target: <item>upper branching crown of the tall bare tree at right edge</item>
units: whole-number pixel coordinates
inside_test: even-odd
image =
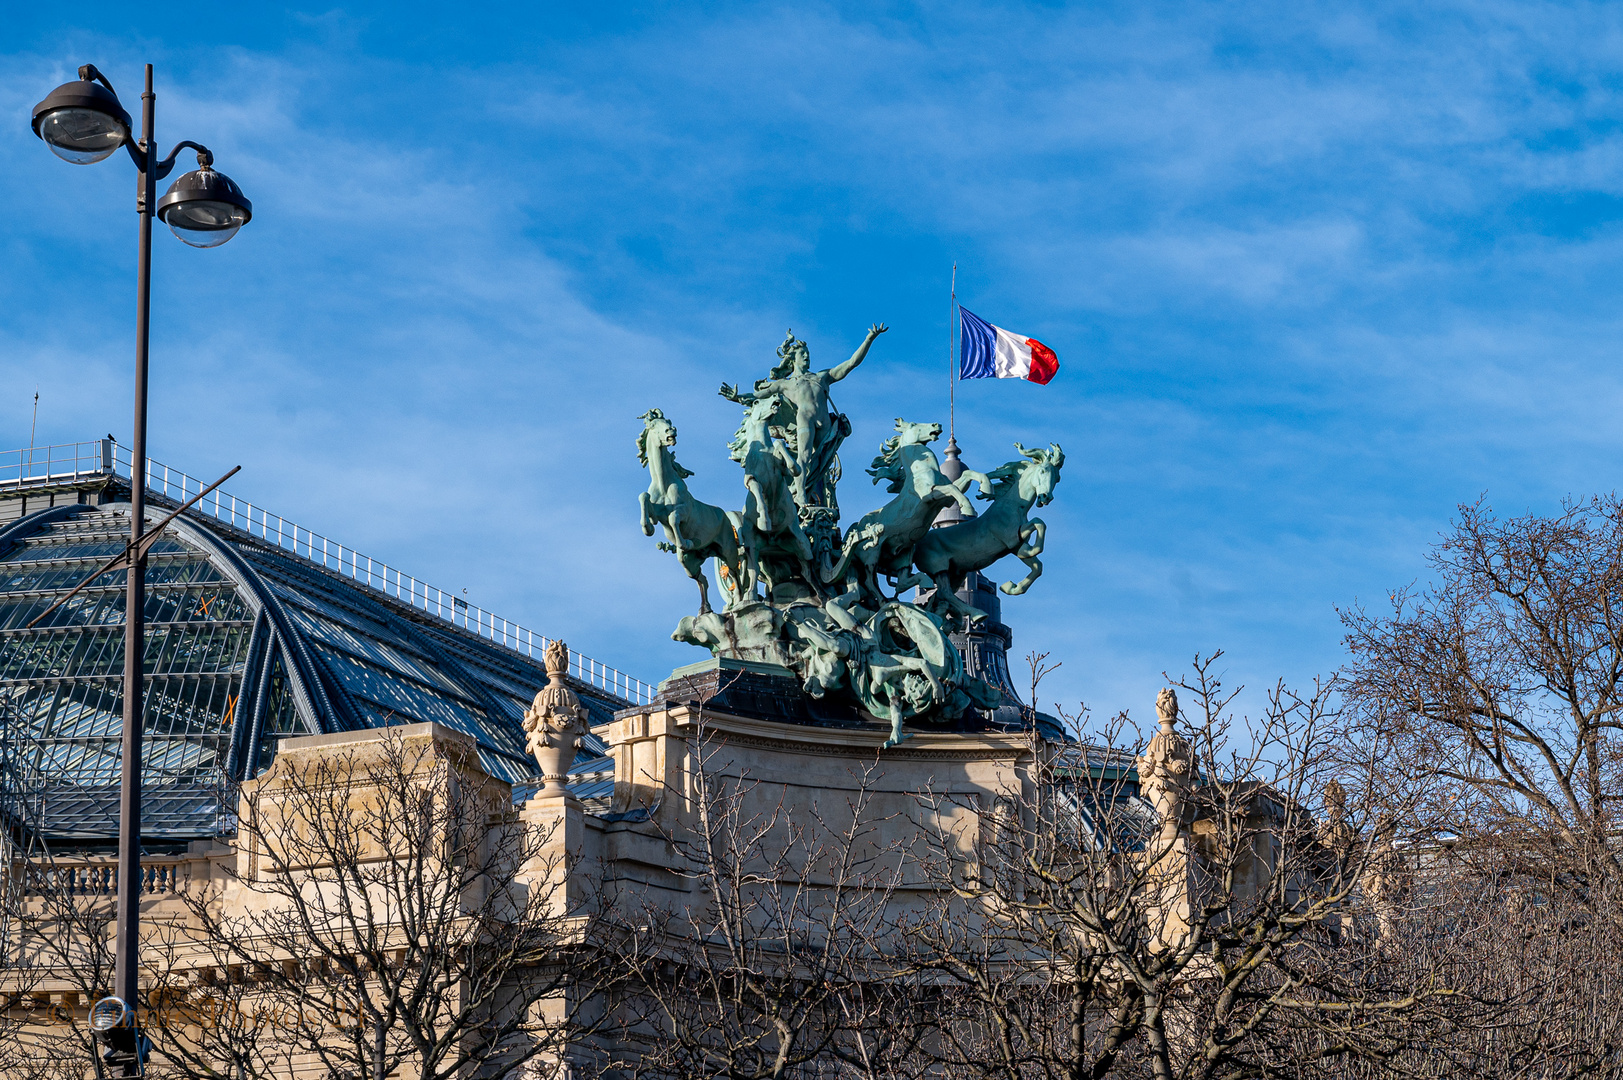
[[[1462,507],[1430,562],[1388,614],[1344,616],[1354,767],[1410,832],[1492,835],[1505,872],[1623,921],[1623,502]]]

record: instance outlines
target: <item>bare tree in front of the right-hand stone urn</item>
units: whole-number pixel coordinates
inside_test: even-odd
[[[1110,749],[1126,716],[1092,742],[1034,736],[1032,784],[982,815],[980,854],[938,835],[943,900],[904,931],[941,1075],[1302,1077],[1391,1061],[1453,1002],[1436,963],[1383,965],[1345,926],[1370,848],[1337,853],[1310,812],[1323,690],[1276,687],[1237,729],[1216,659],[1178,684],[1191,710],[1164,693],[1136,760]],[[923,802],[949,820],[953,799]]]

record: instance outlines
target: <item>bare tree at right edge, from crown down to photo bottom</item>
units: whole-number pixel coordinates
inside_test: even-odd
[[[1396,940],[1469,940],[1493,1023],[1410,1056],[1433,1075],[1623,1075],[1623,502],[1461,507],[1433,580],[1344,612],[1342,773],[1414,862]]]

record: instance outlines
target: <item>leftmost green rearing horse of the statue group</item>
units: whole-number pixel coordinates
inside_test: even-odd
[[[714,557],[727,568],[727,575],[719,575],[724,594],[730,591],[729,578],[743,581],[742,520],[732,510],[700,502],[688,490],[683,481],[693,473],[677,464],[670,451],[677,445],[677,427],[664,413],[649,409],[638,419],[643,421],[643,434],[636,437],[636,460],[648,466],[649,474],[648,490],[636,497],[643,536],[654,534],[656,521],[665,526],[669,542],[661,541],[659,546],[675,552],[682,568],[700,583],[700,614],[704,614],[711,609],[706,559]]]

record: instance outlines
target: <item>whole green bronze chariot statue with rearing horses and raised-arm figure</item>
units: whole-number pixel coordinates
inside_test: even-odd
[[[862,364],[885,330],[875,323],[850,359],[821,372],[812,370],[807,343],[790,331],[777,365],[753,390],[722,383],[721,395],[745,406],[729,443],[743,468],[743,510],[695,499],[683,482],[691,473],[670,450],[677,429],[659,409],[644,413],[638,460],[649,486],[638,507],[643,533],[664,526],[661,547],[700,586],[700,611],[682,619],[675,640],[787,667],[807,693],[842,697],[889,721],[891,747],[906,737],[904,723],[949,721],[971,706],[998,705],[998,690],[964,671],[948,638],[962,620],[984,617],[954,590],[971,570],[1005,555],[1026,562],[1029,573],[1001,590],[1013,596],[1031,588],[1042,573],[1047,526],[1027,512],[1053,499],[1065,453],[1057,443],[1014,443],[1019,460],[949,481],[930,448],[941,426],[898,419],[898,434],[868,469],[894,497],[842,533],[837,451],[852,429],[829,401],[829,387]],[[992,502],[980,516],[966,495],[971,484]],[[954,503],[967,520],[932,529]],[[704,577],[711,559],[724,599],[719,612]],[[914,586],[932,590],[927,603],[901,599]]]

